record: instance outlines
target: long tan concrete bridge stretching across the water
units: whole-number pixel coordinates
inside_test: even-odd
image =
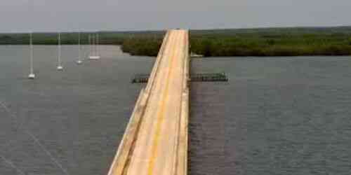
[[[166,33],[108,175],[187,174],[188,37]]]

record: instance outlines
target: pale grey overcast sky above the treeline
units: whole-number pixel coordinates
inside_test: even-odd
[[[0,0],[0,32],[351,25],[351,0]]]

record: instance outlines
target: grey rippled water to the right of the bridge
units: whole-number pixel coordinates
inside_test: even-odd
[[[190,174],[351,174],[351,57],[192,62]]]

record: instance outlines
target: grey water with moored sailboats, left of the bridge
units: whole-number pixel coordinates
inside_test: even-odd
[[[0,46],[0,174],[107,174],[141,87],[131,77],[154,59],[101,46],[77,65],[77,46],[63,45],[60,72],[55,46],[34,48],[28,80],[28,47]]]

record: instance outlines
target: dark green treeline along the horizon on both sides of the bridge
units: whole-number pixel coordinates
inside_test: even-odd
[[[88,34],[81,43],[88,44]],[[131,55],[156,56],[165,31],[99,32],[100,44],[121,45]],[[57,34],[34,34],[34,44],[57,44]],[[63,33],[62,44],[77,44]],[[0,44],[27,44],[28,34],[0,34]],[[205,57],[351,55],[351,27],[296,27],[190,31],[190,51]]]

